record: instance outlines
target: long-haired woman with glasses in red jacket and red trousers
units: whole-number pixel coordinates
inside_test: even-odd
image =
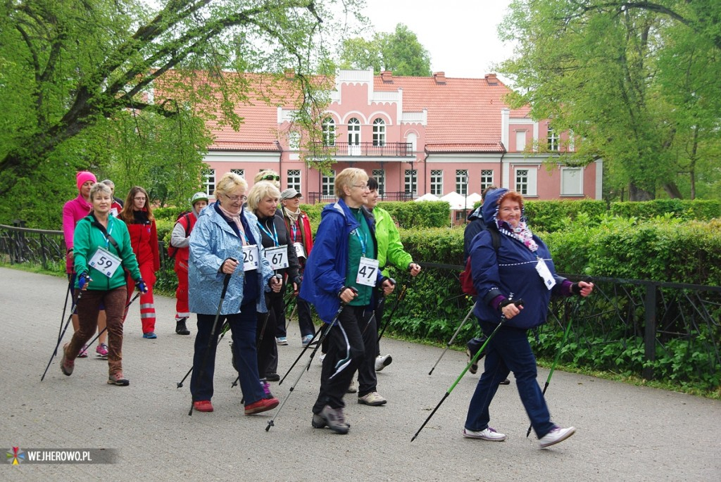
[[[155,285],[155,272],[160,269],[160,255],[158,252],[158,232],[155,227],[155,218],[150,207],[148,193],[142,187],[133,187],[128,192],[123,210],[118,215],[128,225],[131,235],[133,252],[138,259],[141,277],[146,282],[148,291],[140,297],[140,318],[143,323],[143,338],[157,338],[155,334],[155,303],[153,300],[153,285]],[[128,293],[133,293],[135,282],[128,277]],[[128,296],[130,300],[130,296]]]

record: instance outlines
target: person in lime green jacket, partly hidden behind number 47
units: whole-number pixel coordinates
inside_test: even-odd
[[[378,182],[373,177],[368,179],[368,194],[366,209],[373,214],[376,220],[376,243],[378,244],[378,262],[379,269],[384,277],[388,277],[389,272],[387,266],[392,264],[400,269],[409,269],[412,276],[420,273],[420,266],[413,262],[413,258],[403,249],[398,228],[391,218],[388,211],[377,207],[378,204]],[[370,334],[376,339],[376,352],[366,353],[369,367],[358,367],[358,403],[365,405],[379,406],[386,403],[385,398],[381,397],[376,391],[376,373],[383,370],[391,364],[393,358],[390,354],[381,355],[381,347],[378,342],[378,331],[381,328],[381,320],[383,319],[384,303],[379,303],[381,293],[376,290],[374,293],[376,316],[373,318],[373,311],[366,311],[366,323],[371,326],[364,331],[364,334]],[[373,325],[375,329],[373,329]],[[376,356],[373,356],[376,355]]]

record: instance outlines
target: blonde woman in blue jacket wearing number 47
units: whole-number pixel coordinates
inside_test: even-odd
[[[373,287],[381,285],[386,295],[394,288],[378,269],[373,215],[362,209],[369,192],[363,169],[348,168],[338,174],[338,200],[322,212],[301,285],[301,298],[313,303],[321,320],[332,325],[311,424],[340,434],[350,428],[343,414],[343,396],[353,373],[366,356],[376,356],[375,344],[366,352],[361,334]]]

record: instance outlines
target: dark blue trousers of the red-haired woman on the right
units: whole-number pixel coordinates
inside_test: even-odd
[[[481,329],[489,336],[496,325],[480,322]],[[513,372],[516,377],[518,396],[521,397],[528,419],[536,435],[541,438],[551,431],[551,421],[541,387],[536,381],[536,357],[528,343],[527,330],[501,326],[486,347],[485,371],[478,380],[476,391],[468,407],[465,427],[479,432],[487,429],[490,421],[488,407],[493,401],[498,384]]]

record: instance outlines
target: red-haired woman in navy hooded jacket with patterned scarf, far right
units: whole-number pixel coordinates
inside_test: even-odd
[[[539,444],[549,447],[570,437],[575,428],[560,428],[551,421],[536,381],[536,358],[528,343],[528,330],[546,322],[552,294],[588,296],[593,283],[572,283],[556,274],[547,246],[526,224],[523,197],[517,192],[496,189],[488,193],[482,213],[487,228],[500,231],[501,242],[496,251],[489,231],[474,238],[470,252],[478,292],[474,313],[486,336],[503,318],[505,321],[488,342],[485,371],[471,398],[463,435],[495,442],[505,439],[488,426],[489,406],[498,383],[513,372]],[[524,305],[516,305],[514,300],[523,300]]]

